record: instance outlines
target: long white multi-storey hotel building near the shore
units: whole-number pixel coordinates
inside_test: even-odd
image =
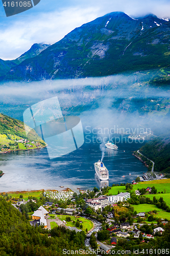
[[[119,193],[116,196],[100,196],[98,198],[92,198],[86,200],[86,207],[90,206],[93,207],[94,210],[103,209],[107,205],[113,205],[117,202],[124,202],[130,198],[130,193]]]

